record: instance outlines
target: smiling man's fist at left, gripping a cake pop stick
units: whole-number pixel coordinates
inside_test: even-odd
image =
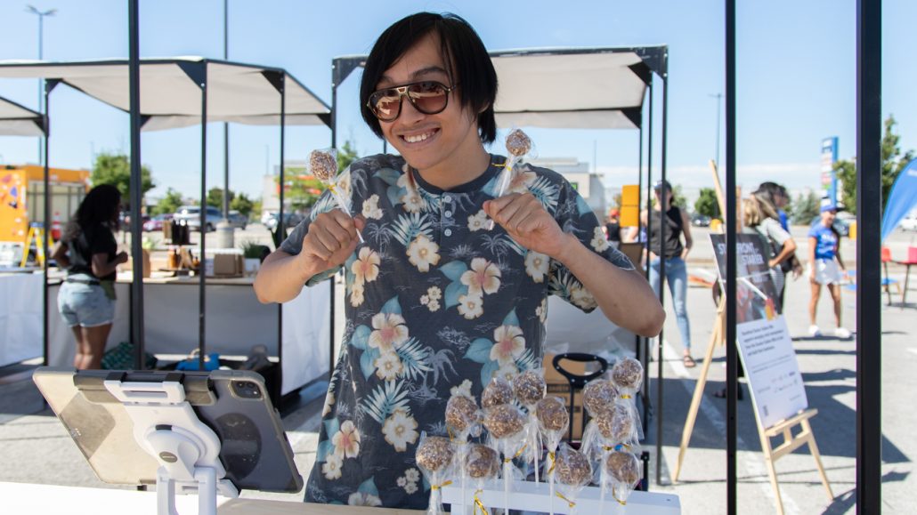
[[[303,250],[296,258],[301,268],[316,272],[344,263],[359,243],[357,231],[363,230],[362,215],[351,218],[340,209],[318,214],[303,238]]]

